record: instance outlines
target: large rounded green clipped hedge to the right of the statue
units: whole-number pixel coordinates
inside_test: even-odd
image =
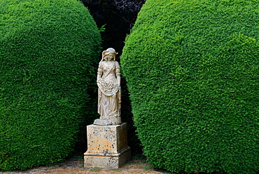
[[[259,170],[259,2],[147,0],[121,64],[144,154],[188,173]]]

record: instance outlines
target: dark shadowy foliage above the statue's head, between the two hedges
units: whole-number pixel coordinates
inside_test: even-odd
[[[137,14],[146,0],[81,0],[89,8],[98,27],[102,32],[102,47],[115,48],[121,53],[125,36],[130,33]]]

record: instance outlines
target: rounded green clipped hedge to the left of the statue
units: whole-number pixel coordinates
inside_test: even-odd
[[[62,161],[86,124],[97,26],[76,0],[0,1],[0,19],[0,170]]]

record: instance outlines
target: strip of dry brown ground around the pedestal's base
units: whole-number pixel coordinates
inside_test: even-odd
[[[1,174],[20,174],[20,173],[34,173],[34,174],[83,174],[83,173],[153,173],[161,174],[162,172],[156,171],[152,168],[146,161],[143,160],[132,160],[126,163],[122,168],[118,169],[102,169],[102,168],[84,168],[83,159],[76,161],[66,161],[64,163],[59,163],[55,166],[41,166],[38,168],[31,168],[28,170],[14,170],[11,172],[0,172]]]

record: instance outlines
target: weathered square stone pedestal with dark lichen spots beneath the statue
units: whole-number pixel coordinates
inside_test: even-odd
[[[127,123],[114,126],[87,126],[87,152],[85,168],[120,168],[130,161],[127,146]]]

